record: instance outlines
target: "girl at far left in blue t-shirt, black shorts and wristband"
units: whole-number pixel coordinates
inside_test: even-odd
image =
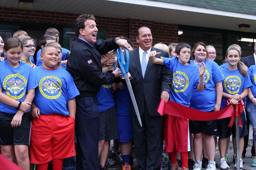
[[[9,38],[3,47],[7,60],[0,62],[0,146],[2,155],[29,170],[30,108],[38,83],[32,68],[20,62],[23,45]]]

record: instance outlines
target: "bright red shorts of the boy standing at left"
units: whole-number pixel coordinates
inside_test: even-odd
[[[60,114],[40,115],[32,119],[30,162],[44,164],[52,159],[76,155],[75,119]]]

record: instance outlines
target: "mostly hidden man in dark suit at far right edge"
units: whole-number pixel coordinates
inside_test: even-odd
[[[256,60],[256,42],[254,43],[254,53],[250,56],[242,57],[241,62],[243,62],[249,68],[251,65],[255,65],[255,60]],[[248,131],[248,135],[244,136],[244,150],[242,154],[243,158],[245,157],[246,148],[248,147],[248,141],[249,141],[250,119],[248,117],[248,114],[246,114],[246,127]],[[252,156],[255,156],[254,142],[253,142],[251,153],[252,153]]]

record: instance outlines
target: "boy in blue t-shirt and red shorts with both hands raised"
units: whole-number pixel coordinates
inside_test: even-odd
[[[194,88],[198,91],[204,89],[205,65],[202,62],[198,67],[189,62],[191,47],[187,43],[179,43],[175,52],[177,57],[156,58],[155,55],[159,53],[151,51],[149,60],[154,64],[165,65],[169,68],[173,74],[170,100],[189,107]],[[188,151],[190,150],[188,126],[188,119],[170,115],[165,117],[165,150],[169,153],[172,167],[177,168],[176,153],[180,152],[183,170],[188,168]]]

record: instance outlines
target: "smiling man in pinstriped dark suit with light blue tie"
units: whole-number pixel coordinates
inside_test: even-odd
[[[160,99],[169,99],[172,76],[169,69],[148,61],[148,54],[155,50],[161,52],[163,57],[169,56],[165,51],[152,47],[148,27],[138,29],[136,40],[139,48],[129,53],[132,88],[142,120],[140,127],[132,106],[135,154],[140,170],[159,170],[163,150],[163,117],[157,113],[157,107]]]

